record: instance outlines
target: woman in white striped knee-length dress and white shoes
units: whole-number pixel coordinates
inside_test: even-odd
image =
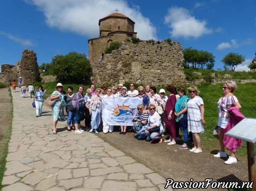
[[[201,153],[201,140],[198,133],[204,133],[204,102],[199,97],[199,91],[196,86],[190,86],[188,92],[191,98],[187,102],[188,112],[188,131],[192,133],[194,147],[190,149],[190,152]]]

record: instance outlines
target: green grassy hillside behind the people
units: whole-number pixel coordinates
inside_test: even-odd
[[[41,84],[37,82],[34,84],[36,87]],[[68,86],[72,86],[74,88],[74,92],[78,85],[76,84],[63,84],[64,90],[67,92]],[[125,83],[128,88],[128,83]],[[42,83],[43,88],[47,88],[47,95],[52,93],[55,90],[56,83]],[[183,86],[187,89],[191,85]],[[217,112],[217,102],[219,98],[223,95],[222,86],[223,84],[211,85],[208,83],[202,83],[201,85],[196,85],[200,91],[200,97],[204,101],[204,108],[205,108],[205,116],[204,120],[206,121],[205,133],[201,134],[201,141],[203,149],[212,151],[212,150],[219,150],[219,140],[213,137],[212,132],[218,122],[218,112]],[[237,90],[234,92],[234,95],[239,100],[242,109],[241,112],[246,117],[253,117],[256,118],[256,84],[255,83],[246,83],[246,84],[237,84]],[[88,85],[85,86],[85,89],[89,88]],[[97,87],[96,87],[97,88]],[[158,87],[157,92],[165,86]],[[176,88],[179,88],[178,86]],[[187,95],[189,95],[187,93]],[[46,96],[45,96],[46,98]],[[256,144],[255,144],[256,146]],[[237,150],[237,153],[245,158],[246,157],[246,142],[244,145]]]

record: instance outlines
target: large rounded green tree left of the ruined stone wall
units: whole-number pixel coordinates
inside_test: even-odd
[[[70,83],[89,83],[91,64],[85,54],[70,52],[67,55],[57,54],[50,64],[51,73],[59,80]]]

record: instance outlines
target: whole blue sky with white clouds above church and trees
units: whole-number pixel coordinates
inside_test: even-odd
[[[16,65],[24,49],[38,65],[75,51],[88,57],[88,39],[99,37],[99,19],[125,14],[141,40],[171,38],[212,52],[214,68],[229,52],[245,56],[236,71],[248,71],[256,52],[255,0],[1,0],[0,64]]]

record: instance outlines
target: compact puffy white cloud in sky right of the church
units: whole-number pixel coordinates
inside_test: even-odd
[[[213,29],[207,28],[206,21],[201,21],[191,16],[189,11],[183,7],[171,7],[164,17],[165,24],[172,28],[172,37],[194,37],[198,38],[204,34],[211,34]]]

